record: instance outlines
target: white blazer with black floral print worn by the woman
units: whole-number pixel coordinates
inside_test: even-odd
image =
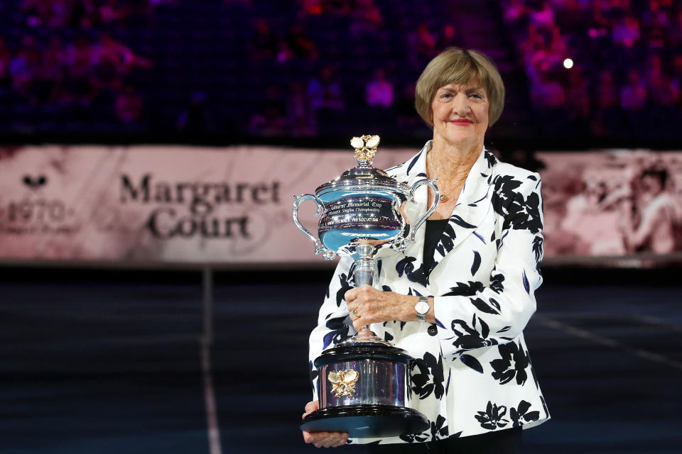
[[[429,150],[431,141],[386,172],[408,185],[426,178]],[[407,204],[411,223],[426,213],[427,197],[427,188],[421,187],[418,204]],[[428,417],[431,428],[416,436],[354,438],[350,443],[435,441],[529,428],[549,419],[523,335],[542,282],[541,230],[540,176],[499,162],[484,149],[435,248],[435,267],[424,269],[424,228],[404,253],[379,253],[375,288],[435,297],[436,323],[371,326],[415,359],[411,405]],[[352,260],[340,260],[310,334],[313,399],[318,375],[313,360],[355,333],[343,299],[352,287],[352,266]]]

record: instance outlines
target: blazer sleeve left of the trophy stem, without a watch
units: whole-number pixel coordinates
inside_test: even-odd
[[[313,400],[318,399],[318,371],[313,361],[326,348],[345,341],[356,333],[348,316],[348,307],[344,294],[352,289],[354,261],[342,258],[336,267],[332,282],[329,284],[325,300],[318,314],[318,325],[310,333],[310,349],[308,367],[310,382],[313,385]]]

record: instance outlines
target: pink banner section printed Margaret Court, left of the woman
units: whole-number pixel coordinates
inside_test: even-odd
[[[380,149],[377,167],[418,150]],[[322,262],[293,195],[354,166],[353,150],[41,146],[0,151],[0,258]],[[300,218],[311,231],[315,204]]]

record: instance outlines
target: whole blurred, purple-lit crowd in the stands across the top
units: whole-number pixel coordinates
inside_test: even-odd
[[[166,22],[156,27],[161,6]],[[371,123],[421,137],[418,74],[448,46],[481,43],[524,68],[529,103],[509,106],[524,109],[545,138],[678,137],[681,2],[502,0],[482,2],[473,16],[460,9],[455,0],[2,2],[0,101],[6,111],[32,109],[34,123],[50,113],[109,115],[141,131],[153,118],[164,130],[254,137],[331,137],[342,123]],[[500,37],[493,44],[471,33],[483,16]],[[507,71],[507,82],[522,78]],[[2,106],[0,116],[13,118]]]

